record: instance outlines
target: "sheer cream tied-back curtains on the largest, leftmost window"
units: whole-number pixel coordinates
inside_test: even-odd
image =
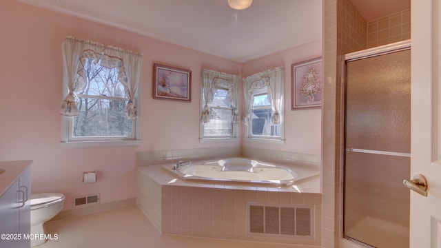
[[[81,92],[87,85],[84,74],[84,65],[87,59],[94,59],[94,63],[106,68],[118,69],[118,80],[124,85],[125,94],[129,99],[125,107],[125,114],[131,120],[137,118],[136,90],[141,81],[141,67],[143,54],[134,54],[121,48],[108,45],[105,47],[94,41],[85,41],[74,37],[67,37],[63,41],[63,83],[68,87],[68,96],[61,105],[60,114],[64,116],[78,116],[76,93]]]

